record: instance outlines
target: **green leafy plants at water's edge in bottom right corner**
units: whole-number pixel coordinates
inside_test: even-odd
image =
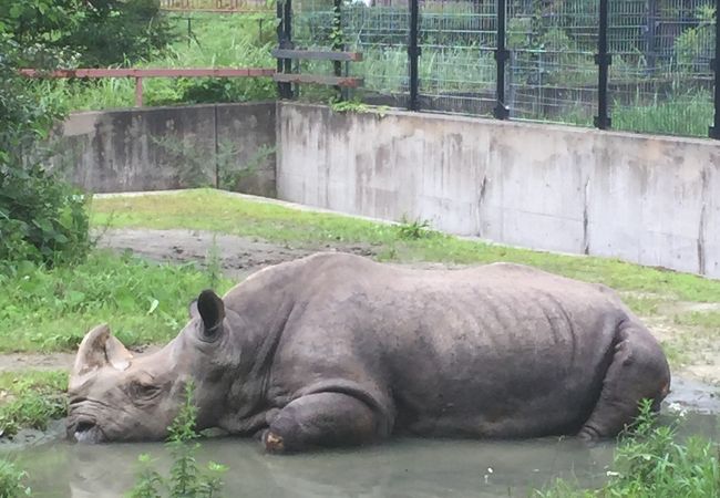
[[[558,480],[543,498],[634,497],[675,498],[720,496],[720,445],[690,437],[680,442],[679,422],[657,425],[650,403],[641,404],[636,423],[620,437],[610,479],[600,489],[582,490]]]

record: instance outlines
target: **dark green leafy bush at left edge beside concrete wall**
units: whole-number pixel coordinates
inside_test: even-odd
[[[56,63],[63,54],[23,50],[2,31],[0,54],[0,271],[78,260],[89,248],[85,197],[45,170],[37,146],[60,114],[31,98],[17,74],[29,60]]]

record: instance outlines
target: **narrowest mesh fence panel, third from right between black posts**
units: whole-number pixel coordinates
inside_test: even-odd
[[[420,98],[430,111],[491,115],[496,0],[425,0],[420,8]]]

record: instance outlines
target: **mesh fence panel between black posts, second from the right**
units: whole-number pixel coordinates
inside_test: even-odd
[[[508,0],[511,117],[592,126],[598,0]]]

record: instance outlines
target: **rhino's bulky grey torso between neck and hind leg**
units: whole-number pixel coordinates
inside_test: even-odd
[[[614,293],[528,267],[413,270],[316,258],[297,291],[302,312],[278,350],[276,364],[291,365],[280,377],[296,387],[328,378],[370,386],[392,404],[397,427],[420,434],[527,436],[579,425],[627,319]]]

